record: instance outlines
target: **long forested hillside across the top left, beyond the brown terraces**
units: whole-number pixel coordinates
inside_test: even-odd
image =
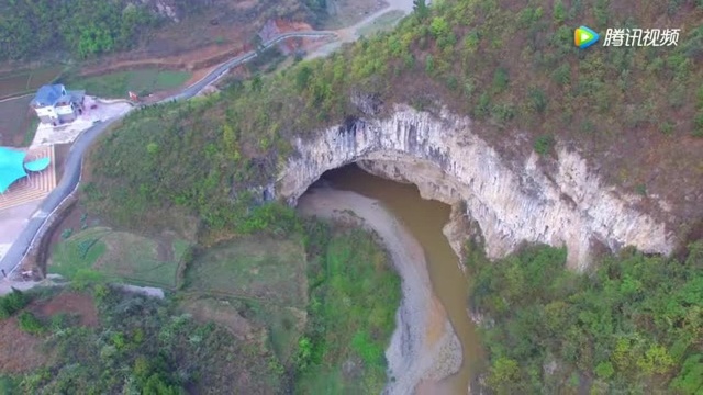
[[[321,7],[317,0],[3,0],[0,61],[46,59],[47,53],[96,58],[137,48],[169,30],[161,40],[188,43],[188,34],[208,26],[213,16],[233,30],[247,30],[269,18],[312,22],[324,15],[324,2]]]

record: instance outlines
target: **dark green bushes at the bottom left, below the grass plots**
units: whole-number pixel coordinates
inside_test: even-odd
[[[100,312],[97,327],[78,326],[64,316],[52,318],[51,326],[29,313],[20,316],[23,329],[54,334],[45,340],[51,364],[14,377],[22,393],[276,391],[280,373],[268,366],[270,352],[260,345],[243,343],[224,328],[199,324],[172,301],[125,294],[107,285],[92,289]]]

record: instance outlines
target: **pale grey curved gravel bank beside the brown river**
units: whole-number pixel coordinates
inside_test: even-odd
[[[386,394],[436,393],[433,383],[457,372],[461,345],[429,281],[425,255],[415,238],[378,201],[330,188],[311,189],[298,210],[305,215],[353,221],[375,230],[402,279],[403,297],[397,327],[386,351],[389,381]]]

